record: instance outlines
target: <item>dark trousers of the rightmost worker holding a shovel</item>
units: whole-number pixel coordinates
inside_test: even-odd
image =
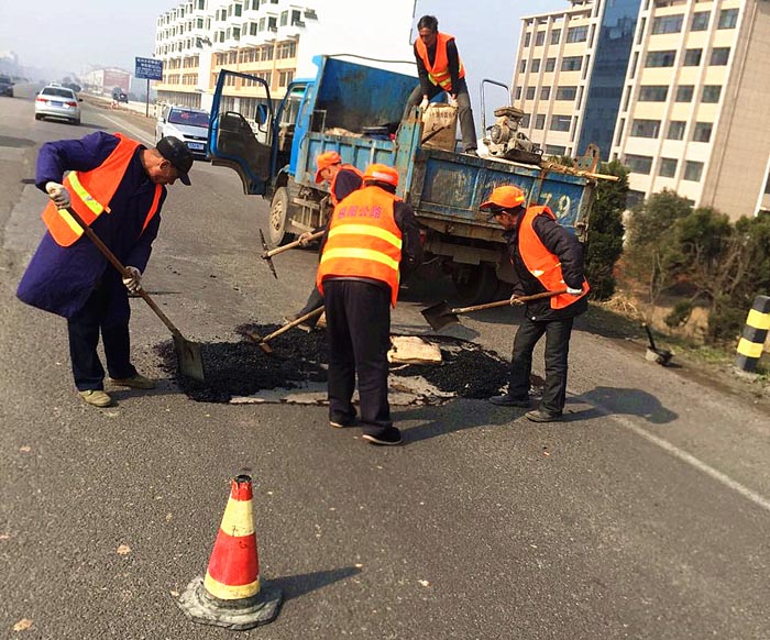
[[[561,415],[566,398],[566,358],[570,353],[572,318],[534,321],[525,316],[514,339],[508,393],[517,398],[529,395],[532,351],[546,334],[546,386],[540,400],[544,413]]]

